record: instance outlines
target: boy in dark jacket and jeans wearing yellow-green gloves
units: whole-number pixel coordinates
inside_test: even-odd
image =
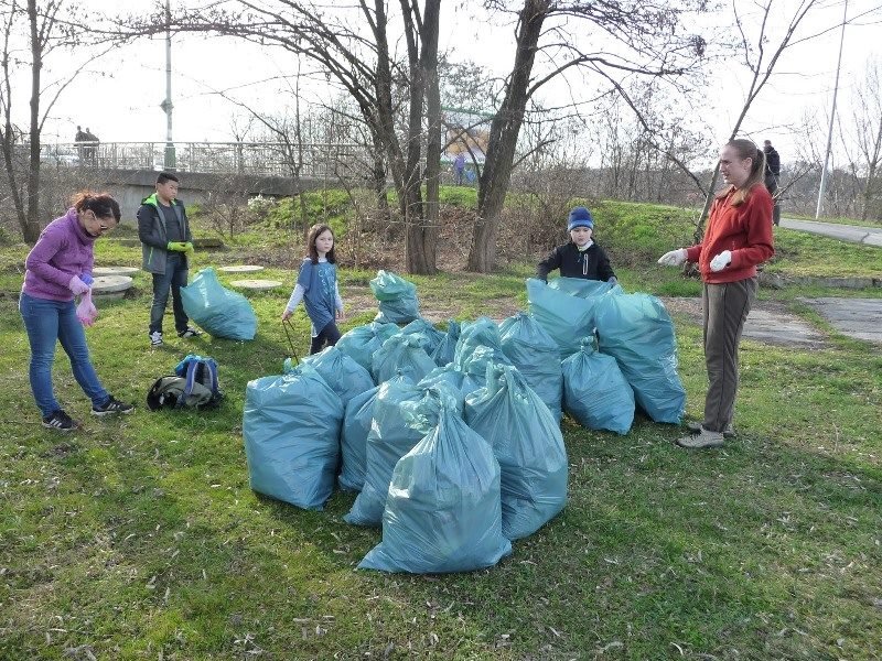
[[[153,275],[153,304],[150,307],[150,346],[162,346],[162,317],[172,294],[174,327],[178,337],[202,335],[190,325],[181,299],[186,286],[187,264],[193,257],[193,236],[184,203],[178,199],[176,176],[161,172],[157,192],[146,197],[138,209],[138,238],[141,239],[141,268]]]

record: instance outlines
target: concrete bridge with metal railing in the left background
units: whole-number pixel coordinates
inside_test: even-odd
[[[372,164],[357,144],[282,142],[69,142],[44,144],[45,165],[75,169],[114,194],[133,218],[154,191],[157,174],[173,172],[187,204],[216,196],[288,197],[364,178]]]

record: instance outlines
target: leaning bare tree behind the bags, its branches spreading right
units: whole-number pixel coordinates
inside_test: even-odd
[[[545,85],[576,68],[602,72],[613,78],[676,76],[688,71],[703,52],[700,39],[680,35],[682,10],[677,2],[523,0],[517,10],[508,4],[505,0],[485,0],[491,11],[515,13],[516,52],[502,104],[491,124],[478,180],[477,219],[467,268],[480,272],[494,267],[496,234],[525,111]],[[588,39],[578,39],[576,31]],[[596,50],[581,50],[579,44],[584,41]],[[537,56],[547,66],[534,73]]]

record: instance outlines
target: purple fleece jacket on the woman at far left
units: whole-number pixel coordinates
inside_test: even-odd
[[[46,225],[24,260],[22,291],[35,299],[72,301],[67,288],[74,275],[92,275],[95,238],[79,225],[75,208]]]

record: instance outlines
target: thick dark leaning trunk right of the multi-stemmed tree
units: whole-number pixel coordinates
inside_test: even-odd
[[[496,232],[512,181],[515,148],[529,99],[528,88],[536,46],[548,11],[548,0],[524,0],[524,9],[518,17],[515,66],[505,99],[491,123],[484,171],[478,178],[477,218],[469,252],[470,271],[488,273],[496,263]]]

